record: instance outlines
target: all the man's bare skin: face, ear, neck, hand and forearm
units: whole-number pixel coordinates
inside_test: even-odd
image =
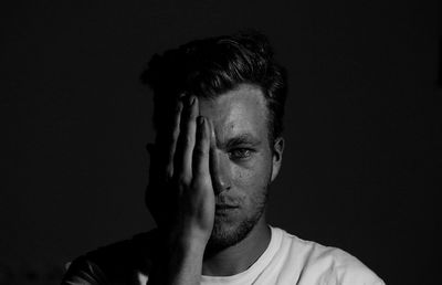
[[[170,251],[156,276],[161,284],[198,284],[201,274],[246,270],[266,249],[266,196],[284,140],[269,141],[264,96],[249,84],[177,106],[169,144],[156,146],[152,162],[160,167],[147,197]]]

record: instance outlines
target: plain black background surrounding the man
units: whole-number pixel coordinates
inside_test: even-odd
[[[255,28],[290,72],[271,224],[350,252],[388,284],[434,284],[440,8],[418,0],[3,7],[0,283],[56,284],[78,254],[151,229],[144,64],[193,39]]]

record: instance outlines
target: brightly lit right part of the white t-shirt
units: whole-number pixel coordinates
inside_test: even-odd
[[[265,252],[246,271],[232,276],[202,276],[201,285],[375,285],[385,284],[352,255],[304,241],[272,228]]]

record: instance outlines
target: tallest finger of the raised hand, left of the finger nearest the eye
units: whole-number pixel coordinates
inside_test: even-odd
[[[189,183],[192,176],[192,154],[196,140],[198,117],[198,98],[189,96],[181,115],[180,130],[173,157],[173,176]]]

